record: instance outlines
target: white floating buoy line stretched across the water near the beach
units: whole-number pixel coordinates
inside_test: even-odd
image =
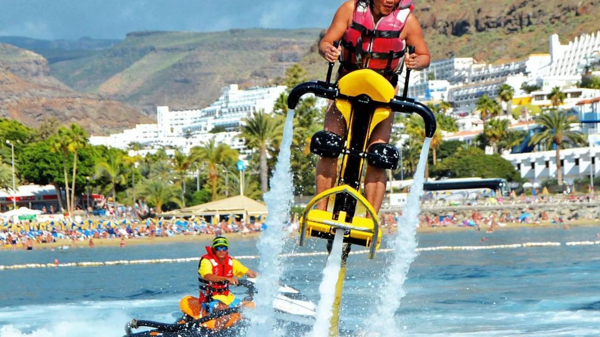
[[[416,248],[417,252],[429,252],[429,251],[476,251],[482,249],[506,249],[506,248],[532,248],[532,247],[548,247],[548,246],[561,246],[560,242],[526,242],[526,243],[512,243],[509,245],[488,245],[488,246],[436,246],[436,247],[425,247]],[[589,245],[600,245],[598,241],[572,241],[566,242],[566,246],[589,246]],[[391,252],[394,249],[379,249],[377,252],[386,253]],[[356,254],[367,254],[367,250],[352,251],[350,255]],[[281,257],[307,257],[307,256],[319,256],[327,255],[327,252],[300,252],[292,254],[281,254]],[[235,257],[238,260],[252,260],[259,258],[259,255],[240,255]],[[200,261],[200,257],[187,257],[187,258],[156,258],[151,260],[117,260],[117,261],[84,261],[84,262],[70,262],[70,263],[58,263],[55,260],[54,263],[27,263],[27,264],[13,264],[11,266],[0,265],[0,270],[8,269],[29,269],[29,268],[47,268],[47,267],[97,267],[97,266],[117,266],[121,264],[154,264],[154,263],[182,263],[182,262],[197,262]]]

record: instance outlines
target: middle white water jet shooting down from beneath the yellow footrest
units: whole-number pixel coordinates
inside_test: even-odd
[[[329,335],[329,326],[331,324],[332,308],[335,301],[335,285],[341,269],[341,249],[344,240],[344,230],[338,228],[335,230],[334,244],[331,248],[331,254],[327,258],[325,269],[323,269],[323,280],[319,285],[319,294],[321,296],[317,306],[316,320],[314,321],[312,337],[325,337]]]

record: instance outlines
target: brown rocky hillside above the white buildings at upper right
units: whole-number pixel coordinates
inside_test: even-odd
[[[433,60],[473,57],[488,63],[548,53],[550,35],[563,44],[600,29],[600,0],[415,0]],[[326,69],[313,46],[301,61],[310,77]]]

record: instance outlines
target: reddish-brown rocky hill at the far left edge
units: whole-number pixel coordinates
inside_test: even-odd
[[[74,91],[49,75],[46,59],[0,44],[0,117],[36,127],[44,117],[76,122],[92,134],[108,134],[153,122],[139,109],[98,95]]]

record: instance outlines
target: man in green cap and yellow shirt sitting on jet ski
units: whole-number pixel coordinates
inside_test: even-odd
[[[212,314],[215,310],[235,308],[241,300],[229,292],[229,285],[238,284],[241,276],[255,278],[257,273],[228,254],[229,242],[223,236],[206,246],[206,254],[200,258],[198,273],[200,281],[199,302],[202,310]]]

